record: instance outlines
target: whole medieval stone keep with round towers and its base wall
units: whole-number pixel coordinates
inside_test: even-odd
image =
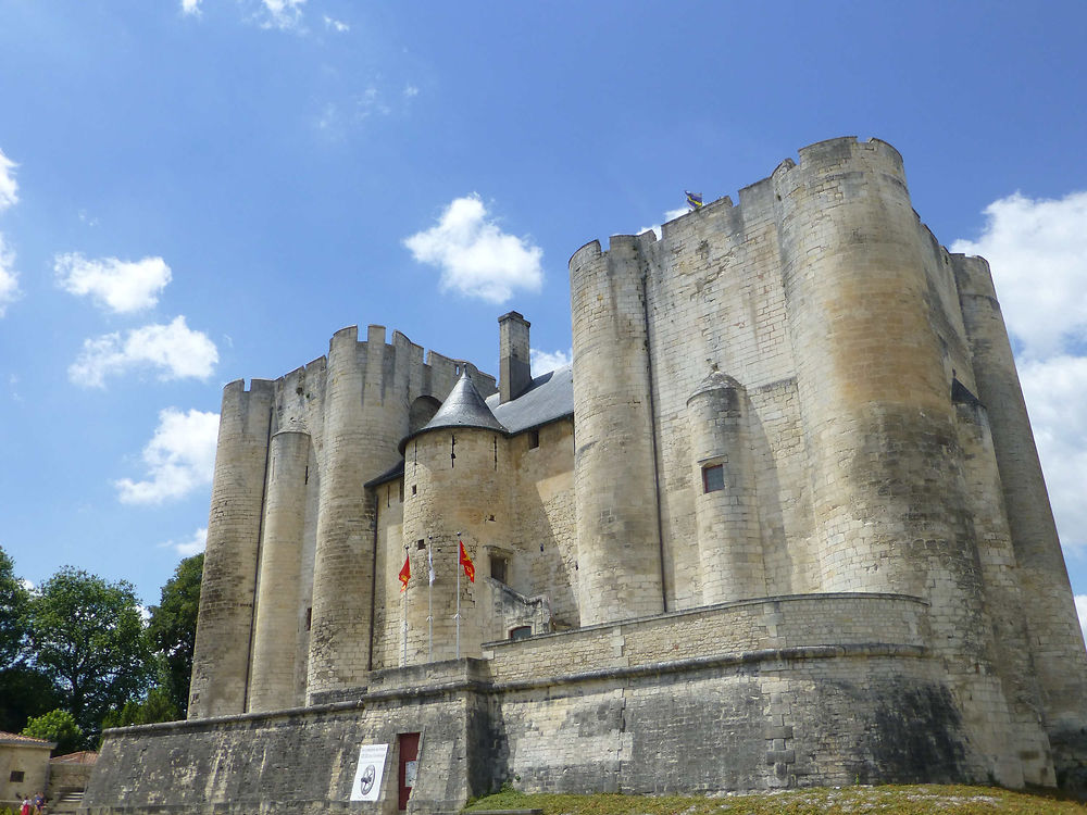
[[[894,148],[813,145],[570,274],[572,368],[533,378],[511,312],[497,387],[379,326],[226,386],[189,720],[109,731],[91,812],[1085,783],[989,271]]]

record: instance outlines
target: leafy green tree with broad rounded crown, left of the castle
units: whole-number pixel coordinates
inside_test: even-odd
[[[153,673],[132,585],[65,566],[35,592],[28,620],[36,665],[93,743],[105,713],[143,695]]]

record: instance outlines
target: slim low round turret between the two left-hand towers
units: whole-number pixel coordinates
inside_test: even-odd
[[[272,437],[249,678],[248,707],[254,712],[302,703],[295,693],[295,660],[309,459],[309,434],[288,429]]]

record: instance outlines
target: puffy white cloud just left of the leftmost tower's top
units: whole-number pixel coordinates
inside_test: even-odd
[[[217,413],[197,410],[182,413],[176,408],[161,411],[159,426],[142,453],[148,478],[116,481],[121,502],[160,504],[211,484],[217,439]]]

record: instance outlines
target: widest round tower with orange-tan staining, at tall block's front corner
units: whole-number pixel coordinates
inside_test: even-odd
[[[772,181],[821,588],[928,601],[975,773],[1021,785],[901,156],[834,139]]]

